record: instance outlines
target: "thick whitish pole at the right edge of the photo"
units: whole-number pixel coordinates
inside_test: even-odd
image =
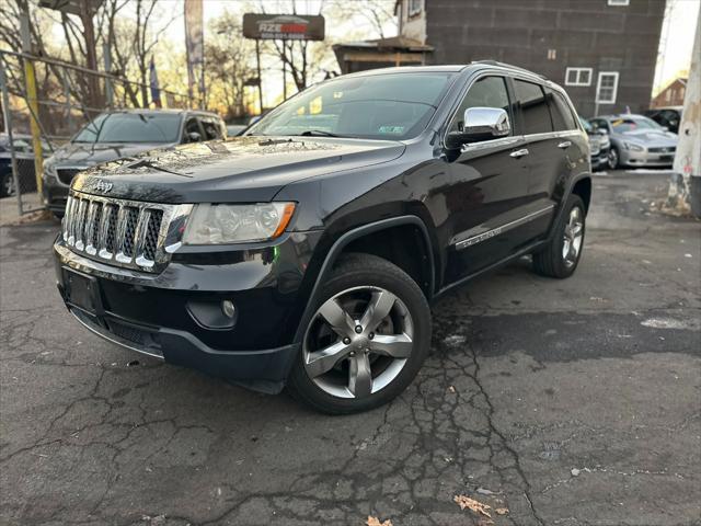
[[[690,208],[696,217],[701,217],[701,5],[668,201],[670,206]]]

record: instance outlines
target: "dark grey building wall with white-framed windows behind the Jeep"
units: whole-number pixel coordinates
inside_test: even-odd
[[[582,116],[593,116],[600,71],[618,71],[613,104],[598,114],[650,106],[665,0],[425,0],[433,64],[495,59],[564,85],[567,67],[591,68],[590,84],[565,89]]]

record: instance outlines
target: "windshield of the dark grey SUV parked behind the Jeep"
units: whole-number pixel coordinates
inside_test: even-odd
[[[176,113],[105,113],[81,129],[73,142],[177,142]]]

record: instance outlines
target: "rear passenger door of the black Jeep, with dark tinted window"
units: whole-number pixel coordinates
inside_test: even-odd
[[[524,148],[528,151],[527,205],[519,220],[522,238],[530,242],[542,237],[550,227],[554,214],[553,190],[562,173],[566,145],[554,132],[543,87],[518,78],[513,81],[519,133],[524,135]]]

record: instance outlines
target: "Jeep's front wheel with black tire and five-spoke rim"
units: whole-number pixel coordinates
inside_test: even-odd
[[[430,309],[401,268],[348,254],[323,284],[288,388],[329,414],[382,405],[414,379],[430,347]]]

